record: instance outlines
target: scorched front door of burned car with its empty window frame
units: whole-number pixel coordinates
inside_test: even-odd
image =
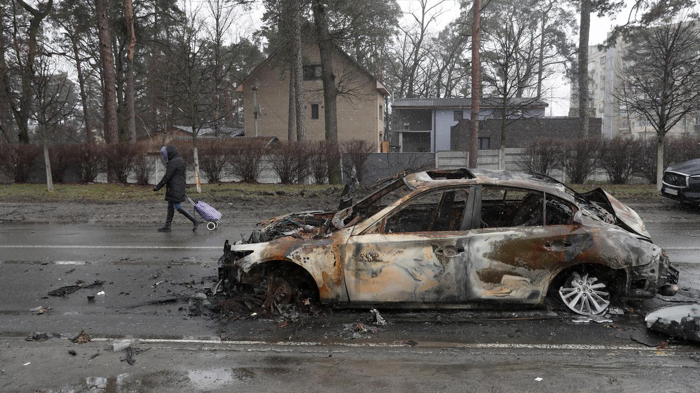
[[[417,198],[449,190],[468,192],[460,230],[391,234],[374,232],[377,227],[384,227],[388,217]],[[344,253],[349,301],[353,304],[400,303],[414,306],[468,302],[464,293],[468,260],[464,256],[468,255],[465,248],[474,203],[475,185],[471,184],[416,190],[365,220],[366,224],[358,225],[349,236]],[[442,252],[442,255],[437,252]],[[451,283],[442,280],[446,276],[451,277]],[[390,287],[391,290],[386,290]]]

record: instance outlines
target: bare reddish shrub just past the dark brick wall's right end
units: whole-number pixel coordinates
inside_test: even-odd
[[[636,169],[641,152],[642,141],[639,139],[615,136],[601,143],[598,165],[608,173],[610,183],[626,184]]]

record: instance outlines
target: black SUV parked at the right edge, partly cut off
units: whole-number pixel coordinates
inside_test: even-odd
[[[700,202],[700,159],[671,165],[664,171],[661,194],[685,202]]]

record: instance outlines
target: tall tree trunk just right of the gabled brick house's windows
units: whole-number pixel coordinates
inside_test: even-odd
[[[321,80],[323,81],[323,115],[325,117],[325,140],[330,142],[333,149],[338,145],[338,124],[335,87],[335,75],[332,66],[332,41],[328,34],[328,20],[325,6],[321,0],[314,0],[314,23],[318,37],[318,49],[321,51]],[[335,155],[330,155],[335,156]],[[328,163],[328,181],[331,184],[342,182],[342,173],[337,157],[332,157]]]

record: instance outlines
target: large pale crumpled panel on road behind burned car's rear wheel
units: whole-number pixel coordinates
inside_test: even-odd
[[[685,304],[654,310],[645,318],[647,328],[669,336],[700,342],[700,305]]]

